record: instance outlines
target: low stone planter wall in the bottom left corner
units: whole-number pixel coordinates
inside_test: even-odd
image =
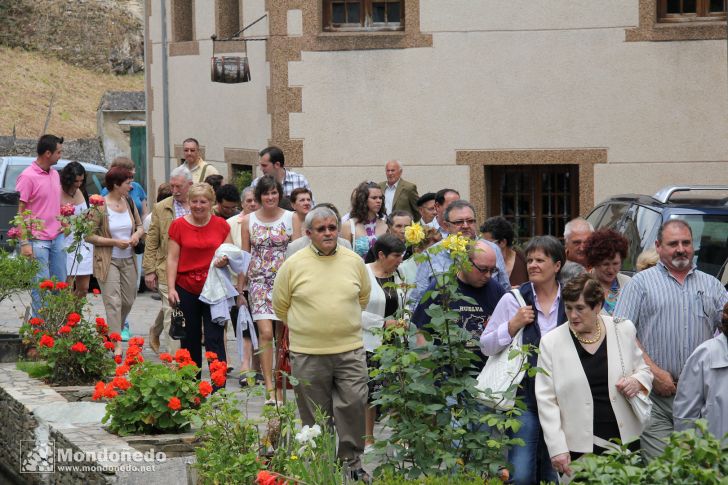
[[[72,401],[67,401],[56,388],[28,377],[15,364],[0,364],[0,483],[8,480],[32,485],[187,482],[187,464],[194,461],[190,453],[194,452],[196,442],[192,433],[126,438],[113,435],[101,423],[105,406],[83,399],[88,389],[59,388],[72,396]],[[56,454],[52,473],[20,474],[21,440],[27,440],[23,444],[31,447],[39,442],[53,442]],[[27,450],[28,446],[23,449]],[[67,455],[60,454],[59,450],[70,452],[72,460],[64,460]],[[145,453],[150,457],[163,453],[165,458],[160,461],[125,458]],[[25,456],[27,453],[23,453]],[[73,469],[65,465],[72,465]]]

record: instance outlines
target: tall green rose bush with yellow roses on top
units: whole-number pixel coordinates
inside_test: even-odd
[[[424,238],[417,228],[405,232],[410,246]],[[472,351],[472,335],[460,325],[460,314],[451,309],[451,302],[466,299],[456,274],[472,268],[468,257],[472,244],[460,234],[450,234],[413,256],[419,264],[429,265],[435,278],[434,290],[423,296],[424,303],[418,302],[427,305],[430,317],[423,327],[424,345],[410,345],[417,332],[411,325],[382,330],[383,344],[375,351],[377,364],[370,375],[381,383],[374,404],[380,406],[381,422],[391,434],[387,441],[375,443],[378,476],[419,480],[460,473],[498,479],[507,473],[504,451],[521,443],[509,432],[519,426],[522,399],[516,399],[516,407],[508,412],[484,409],[475,388],[480,359]],[[433,256],[444,251],[452,265],[437,272]],[[406,321],[408,311],[397,316]]]

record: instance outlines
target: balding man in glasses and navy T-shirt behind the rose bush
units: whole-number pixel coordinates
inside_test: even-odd
[[[496,251],[486,241],[478,241],[473,245],[469,260],[470,269],[462,269],[457,274],[458,288],[462,295],[472,298],[476,304],[465,300],[455,300],[450,303],[450,309],[459,313],[458,324],[472,335],[469,347],[481,359],[480,367],[482,367],[485,365],[487,357],[480,351],[480,336],[505,290],[493,278],[498,274],[498,268],[495,265]],[[433,282],[427,290],[430,291],[434,288],[435,283]],[[430,323],[430,317],[425,310],[432,303],[439,304],[440,302],[437,299],[434,302],[426,300],[417,307],[412,316],[414,324],[421,329],[417,336],[420,345],[425,343],[422,332],[427,332],[427,325]]]

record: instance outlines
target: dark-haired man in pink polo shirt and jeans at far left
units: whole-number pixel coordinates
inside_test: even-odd
[[[58,216],[61,213],[61,180],[51,167],[58,163],[63,149],[63,138],[43,135],[38,140],[38,158],[18,176],[15,190],[20,192],[18,213],[30,210],[34,218],[43,221],[43,229],[33,238],[21,241],[20,253],[40,263],[38,281],[56,277],[66,281],[66,251]],[[32,292],[33,310],[38,308],[37,290]]]

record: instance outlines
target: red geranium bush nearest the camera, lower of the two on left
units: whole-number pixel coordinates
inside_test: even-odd
[[[108,383],[96,383],[94,400],[109,400],[102,421],[109,423],[111,432],[122,436],[187,430],[190,420],[184,411],[197,409],[212,393],[212,385],[197,380],[200,369],[189,351],[161,354],[162,363],[158,364],[144,361],[143,345],[141,337],[131,338],[126,356],[119,359],[116,377]],[[212,352],[207,357],[211,368],[220,362]],[[217,366],[224,369],[220,364]]]

